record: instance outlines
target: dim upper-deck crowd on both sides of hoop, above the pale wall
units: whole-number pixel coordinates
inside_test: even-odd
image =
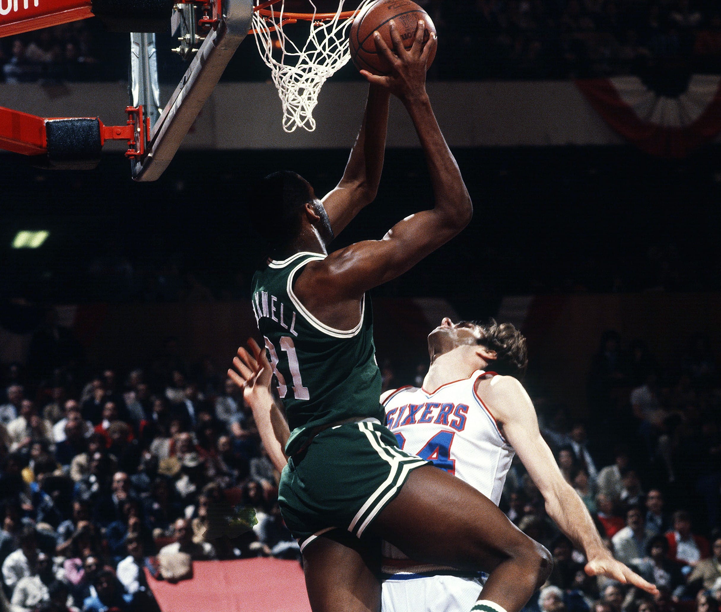
[[[715,0],[425,0],[438,28],[434,79],[565,79],[660,71],[717,72],[721,11]],[[123,74],[128,53],[82,22],[0,44],[9,82],[103,80]],[[112,35],[120,37],[122,35]],[[161,39],[159,39],[160,41]],[[162,44],[169,43],[162,38]],[[95,46],[96,50],[93,50]],[[161,57],[170,56],[159,44]],[[97,60],[103,66],[97,66]],[[267,79],[250,65],[233,79]],[[463,58],[463,61],[459,61]],[[164,63],[163,60],[161,63]],[[99,69],[99,68],[102,68]],[[174,72],[173,72],[174,74]],[[265,75],[265,76],[262,76]]]

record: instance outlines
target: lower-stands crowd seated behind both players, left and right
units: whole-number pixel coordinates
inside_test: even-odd
[[[300,559],[278,508],[279,474],[220,368],[189,367],[177,352],[123,373],[87,376],[76,364],[58,355],[1,375],[0,602],[12,612],[157,612],[145,569],[181,580],[193,560]],[[387,362],[382,371],[389,387],[419,383],[425,367],[408,381]],[[719,612],[721,385],[707,340],[692,339],[665,372],[642,342],[604,334],[585,422],[528,387],[604,541],[659,595],[585,575],[515,461],[502,508],[555,560],[526,612]]]

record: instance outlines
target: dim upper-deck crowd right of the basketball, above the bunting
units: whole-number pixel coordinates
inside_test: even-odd
[[[713,0],[426,4],[438,25],[441,78],[565,79],[721,66],[721,12]]]

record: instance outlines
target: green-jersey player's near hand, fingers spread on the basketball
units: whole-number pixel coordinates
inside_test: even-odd
[[[421,19],[415,31],[415,39],[410,49],[403,46],[401,36],[396,30],[394,22],[390,22],[393,50],[388,48],[379,32],[373,32],[373,40],[376,49],[391,65],[391,74],[388,76],[377,76],[367,70],[361,70],[361,74],[373,84],[389,89],[404,102],[425,96],[425,71],[428,67],[430,51],[438,44],[435,33],[428,42],[423,44],[425,34],[425,22]]]

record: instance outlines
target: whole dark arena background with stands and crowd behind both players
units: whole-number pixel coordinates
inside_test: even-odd
[[[474,217],[371,291],[384,389],[420,386],[444,316],[512,322],[562,474],[617,558],[660,587],[585,576],[516,461],[500,507],[552,552],[559,588],[524,610],[719,612],[721,6],[420,4],[438,29],[428,92]],[[167,99],[187,64],[167,32],[156,44]],[[128,35],[99,19],[2,37],[0,66],[2,107],[125,123]],[[278,169],[335,187],[366,85],[341,68],[317,130],[288,134],[269,79],[249,36],[155,182],[133,182],[122,142],[94,170],[0,153],[1,610],[310,609],[279,474],[226,371],[259,337],[249,188]],[[332,248],[432,206],[394,100],[378,196]],[[209,538],[221,498],[252,507],[255,528]],[[659,535],[663,564],[647,551]],[[163,566],[164,546],[190,551],[192,572]]]

